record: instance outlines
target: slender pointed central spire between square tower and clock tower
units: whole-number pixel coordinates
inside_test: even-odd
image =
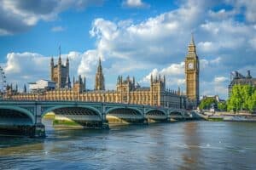
[[[99,65],[96,71],[95,77],[95,90],[105,90],[105,80],[102,71],[102,61],[101,58],[99,59]]]

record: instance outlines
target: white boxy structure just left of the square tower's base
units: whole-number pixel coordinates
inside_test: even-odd
[[[38,82],[29,82],[29,89],[34,91],[48,91],[55,89],[56,82],[52,82],[50,80],[38,80]]]

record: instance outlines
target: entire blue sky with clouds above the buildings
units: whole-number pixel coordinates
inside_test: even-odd
[[[102,58],[106,88],[119,75],[185,91],[184,59],[195,37],[200,95],[227,98],[230,72],[256,77],[254,0],[0,0],[0,65],[23,87],[49,79],[49,61],[70,59],[70,77],[94,88]],[[21,90],[21,89],[20,89]]]

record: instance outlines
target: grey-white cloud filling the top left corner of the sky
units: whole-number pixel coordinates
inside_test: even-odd
[[[1,0],[0,36],[27,31],[37,25],[39,20],[55,20],[58,14],[68,8],[83,9],[90,5],[102,4],[102,2],[103,0]]]

